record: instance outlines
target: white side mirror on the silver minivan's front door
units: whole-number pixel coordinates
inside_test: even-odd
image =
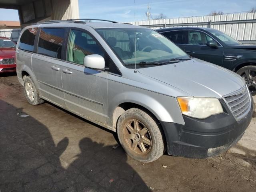
[[[104,69],[105,60],[101,55],[87,55],[84,57],[84,66],[92,69]]]

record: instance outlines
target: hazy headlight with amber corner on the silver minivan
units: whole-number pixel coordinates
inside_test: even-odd
[[[178,97],[182,114],[204,119],[211,115],[222,113],[223,108],[217,98]]]

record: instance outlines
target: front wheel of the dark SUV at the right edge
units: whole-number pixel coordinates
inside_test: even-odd
[[[242,78],[244,78],[250,92],[252,94],[255,94],[256,93],[256,66],[254,65],[244,66],[240,68],[236,73],[242,76]]]

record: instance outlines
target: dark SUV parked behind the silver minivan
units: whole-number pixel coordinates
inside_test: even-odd
[[[179,27],[158,29],[190,56],[202,59],[241,75],[256,93],[256,45],[243,45],[212,28]]]

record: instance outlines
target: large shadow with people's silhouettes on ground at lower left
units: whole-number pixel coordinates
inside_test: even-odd
[[[103,192],[150,191],[127,164],[122,150],[82,138],[80,154],[65,164],[61,155],[69,139],[57,144],[46,126],[22,109],[0,100],[0,191]]]

